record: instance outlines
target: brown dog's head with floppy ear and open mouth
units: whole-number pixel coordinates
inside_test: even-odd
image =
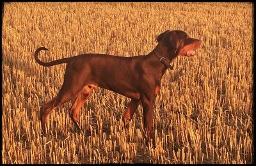
[[[167,47],[168,52],[174,56],[194,56],[195,50],[200,47],[202,41],[189,38],[184,31],[165,31],[157,36],[157,41]]]

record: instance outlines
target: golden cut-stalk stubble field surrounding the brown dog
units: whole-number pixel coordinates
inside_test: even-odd
[[[2,26],[3,163],[254,162],[252,3],[7,3]],[[130,99],[93,92],[80,112],[84,135],[54,110],[41,137],[40,106],[56,96],[65,64],[35,62],[83,53],[148,54],[167,29],[203,41],[177,57],[154,105],[156,148],[145,145],[141,106],[122,123]]]

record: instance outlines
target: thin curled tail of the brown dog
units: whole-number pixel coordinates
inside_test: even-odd
[[[36,62],[42,66],[54,66],[56,64],[68,63],[70,61],[70,59],[72,58],[72,57],[66,57],[63,59],[58,59],[56,61],[51,61],[49,63],[45,63],[45,62],[40,61],[40,59],[38,58],[38,52],[40,52],[40,50],[48,50],[48,49],[46,49],[45,47],[40,47],[40,48],[36,49],[36,51],[35,51],[34,56],[35,56]]]

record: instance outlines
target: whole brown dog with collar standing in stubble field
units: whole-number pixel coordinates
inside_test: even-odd
[[[49,63],[38,59],[40,50],[35,52],[36,62],[42,66],[53,66],[68,63],[64,82],[56,98],[45,103],[41,108],[40,119],[45,133],[47,116],[53,109],[68,102],[76,96],[76,102],[69,110],[69,116],[79,127],[79,110],[93,89],[102,87],[123,94],[131,98],[131,102],[124,113],[124,118],[130,120],[139,103],[143,106],[144,127],[148,142],[154,138],[153,132],[153,104],[159,93],[161,78],[170,62],[177,56],[193,56],[201,42],[189,38],[184,31],[165,31],[157,37],[159,42],[147,56],[118,57],[103,54],[83,54],[67,57]]]

